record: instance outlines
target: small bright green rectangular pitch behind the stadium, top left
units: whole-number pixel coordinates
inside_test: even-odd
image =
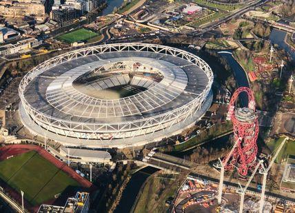
[[[67,34],[63,34],[60,37],[57,37],[57,39],[66,43],[73,43],[75,41],[87,41],[96,36],[98,36],[98,34],[96,34],[95,32],[82,28],[80,30],[74,30]]]

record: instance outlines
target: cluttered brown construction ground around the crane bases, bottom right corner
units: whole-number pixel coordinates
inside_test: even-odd
[[[241,194],[238,187],[225,185],[218,204],[218,183],[190,175],[183,182],[174,199],[172,212],[238,212]],[[243,212],[259,212],[259,192],[248,191],[244,197]],[[294,212],[295,203],[268,196],[263,212]]]

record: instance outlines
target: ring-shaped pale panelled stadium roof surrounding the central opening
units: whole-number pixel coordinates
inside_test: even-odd
[[[164,79],[152,83],[144,92],[114,100],[90,97],[74,87],[73,81],[82,74],[119,61],[150,65]],[[101,79],[96,87],[110,88],[116,85],[114,80],[118,84],[129,81],[129,77]],[[147,79],[135,81],[138,85],[148,83]],[[144,119],[179,108],[196,99],[207,84],[205,72],[183,59],[155,52],[111,52],[81,57],[46,70],[30,83],[25,96],[32,107],[50,116],[90,123],[114,122]]]

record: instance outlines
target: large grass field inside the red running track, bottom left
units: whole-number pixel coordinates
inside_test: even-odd
[[[39,205],[67,187],[79,187],[79,183],[37,152],[31,151],[0,161],[0,178],[20,192],[32,205]]]

